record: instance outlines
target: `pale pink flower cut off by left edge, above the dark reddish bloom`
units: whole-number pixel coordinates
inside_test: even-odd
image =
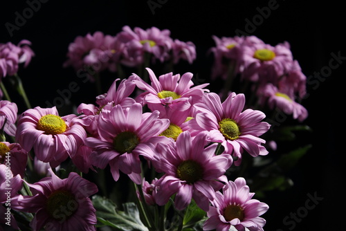
[[[17,104],[8,100],[0,101],[0,129],[3,129],[9,136],[15,136],[17,113]]]

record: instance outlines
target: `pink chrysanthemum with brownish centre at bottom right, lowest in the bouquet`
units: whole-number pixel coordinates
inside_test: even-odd
[[[244,178],[228,181],[222,194],[216,192],[203,230],[227,231],[234,226],[239,231],[245,228],[263,231],[266,220],[260,216],[268,210],[268,205],[253,199],[253,195]]]

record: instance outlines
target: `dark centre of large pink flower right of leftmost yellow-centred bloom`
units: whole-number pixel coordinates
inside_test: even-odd
[[[130,153],[138,144],[138,136],[131,131],[122,131],[113,140],[113,147],[120,154]]]

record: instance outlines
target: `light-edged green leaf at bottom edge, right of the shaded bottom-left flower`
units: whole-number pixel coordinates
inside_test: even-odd
[[[148,231],[148,228],[140,221],[140,215],[135,203],[124,203],[123,211],[117,209],[116,204],[108,198],[93,196],[93,206],[98,218],[98,227],[107,225],[116,230]]]

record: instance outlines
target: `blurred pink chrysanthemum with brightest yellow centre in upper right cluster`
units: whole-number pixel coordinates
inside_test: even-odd
[[[253,44],[242,47],[242,78],[246,80],[275,84],[280,76],[288,73],[292,63],[288,42],[276,46]]]

